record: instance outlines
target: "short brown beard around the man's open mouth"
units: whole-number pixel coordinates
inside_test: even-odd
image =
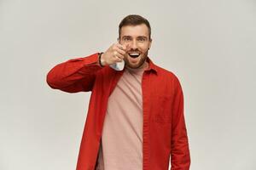
[[[144,54],[140,53],[140,55],[137,58],[132,58],[129,54],[126,54],[125,56],[125,67],[131,68],[131,69],[139,69],[142,68],[144,63],[146,62],[148,58],[148,51]],[[131,60],[137,60],[136,62],[131,62]]]

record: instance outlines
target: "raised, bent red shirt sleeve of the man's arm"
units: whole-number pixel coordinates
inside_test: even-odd
[[[96,71],[102,67],[98,63],[98,54],[84,58],[69,59],[55,65],[47,74],[49,87],[68,93],[91,91],[96,79]]]

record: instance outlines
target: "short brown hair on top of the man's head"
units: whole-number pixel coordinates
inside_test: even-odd
[[[149,39],[151,39],[151,27],[147,19],[143,18],[138,14],[129,14],[119,24],[119,38],[121,34],[121,28],[123,26],[137,26],[145,24],[148,27]]]

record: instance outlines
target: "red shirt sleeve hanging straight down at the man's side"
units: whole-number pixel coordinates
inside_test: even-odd
[[[171,170],[189,170],[190,154],[183,114],[183,90],[176,77],[176,91],[172,105]]]

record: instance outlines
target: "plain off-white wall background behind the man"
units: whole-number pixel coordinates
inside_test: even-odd
[[[150,58],[182,83],[190,169],[256,169],[254,0],[0,0],[0,169],[75,169],[90,93],[46,74],[105,51],[127,14],[150,21]]]

